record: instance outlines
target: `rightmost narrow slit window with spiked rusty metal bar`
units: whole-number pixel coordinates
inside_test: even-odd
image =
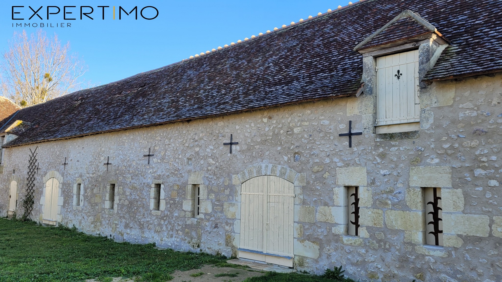
[[[426,244],[443,245],[441,188],[425,188]]]

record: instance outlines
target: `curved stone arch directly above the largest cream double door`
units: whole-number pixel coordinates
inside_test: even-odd
[[[279,164],[257,164],[249,166],[233,177],[233,182],[244,183],[245,181],[262,175],[278,176],[294,183],[295,186],[305,186],[307,176],[295,170]],[[237,181],[236,181],[237,180]]]

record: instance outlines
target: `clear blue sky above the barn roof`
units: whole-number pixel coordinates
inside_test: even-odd
[[[355,1],[353,1],[355,2]],[[28,20],[33,12],[42,6],[39,15]],[[71,3],[71,4],[69,4]],[[328,9],[336,9],[338,5],[346,6],[348,1],[317,0],[317,1],[131,1],[131,0],[85,0],[85,1],[2,1],[0,4],[0,50],[8,47],[15,31],[25,29],[33,33],[36,28],[13,28],[13,23],[71,23],[71,28],[43,28],[47,35],[56,33],[63,42],[70,42],[72,52],[85,61],[88,72],[84,79],[92,85],[100,85],[126,78],[137,73],[166,66],[218,46],[230,44],[245,37],[265,33],[289,25],[300,18],[315,16],[318,12],[325,13]],[[63,6],[69,8],[67,18],[76,16],[77,20],[63,20]],[[12,6],[22,14],[15,17],[25,18],[24,21],[12,20]],[[47,6],[58,6],[61,12],[51,15],[46,20]],[[94,20],[80,20],[80,6],[91,6]],[[101,19],[101,9],[105,8],[105,20]],[[112,8],[115,6],[115,20],[112,20]],[[139,9],[153,6],[158,9],[159,16],[154,20],[144,20],[139,16],[134,20],[118,20],[118,7],[123,7],[128,13],[135,6]],[[57,12],[57,8],[51,8]],[[155,11],[147,8],[148,15]],[[150,13],[150,14],[148,14]],[[123,14],[122,14],[123,15]],[[125,18],[125,17],[124,17]]]

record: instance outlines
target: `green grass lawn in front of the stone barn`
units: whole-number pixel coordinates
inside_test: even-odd
[[[154,247],[154,244],[118,243],[67,227],[45,227],[35,222],[0,218],[0,282],[81,282],[89,278],[106,281],[120,276],[162,282],[172,279],[170,273],[175,270],[195,269],[204,264],[233,266],[225,262],[228,259],[225,256]],[[246,280],[290,281],[333,280],[297,273],[267,273]]]

